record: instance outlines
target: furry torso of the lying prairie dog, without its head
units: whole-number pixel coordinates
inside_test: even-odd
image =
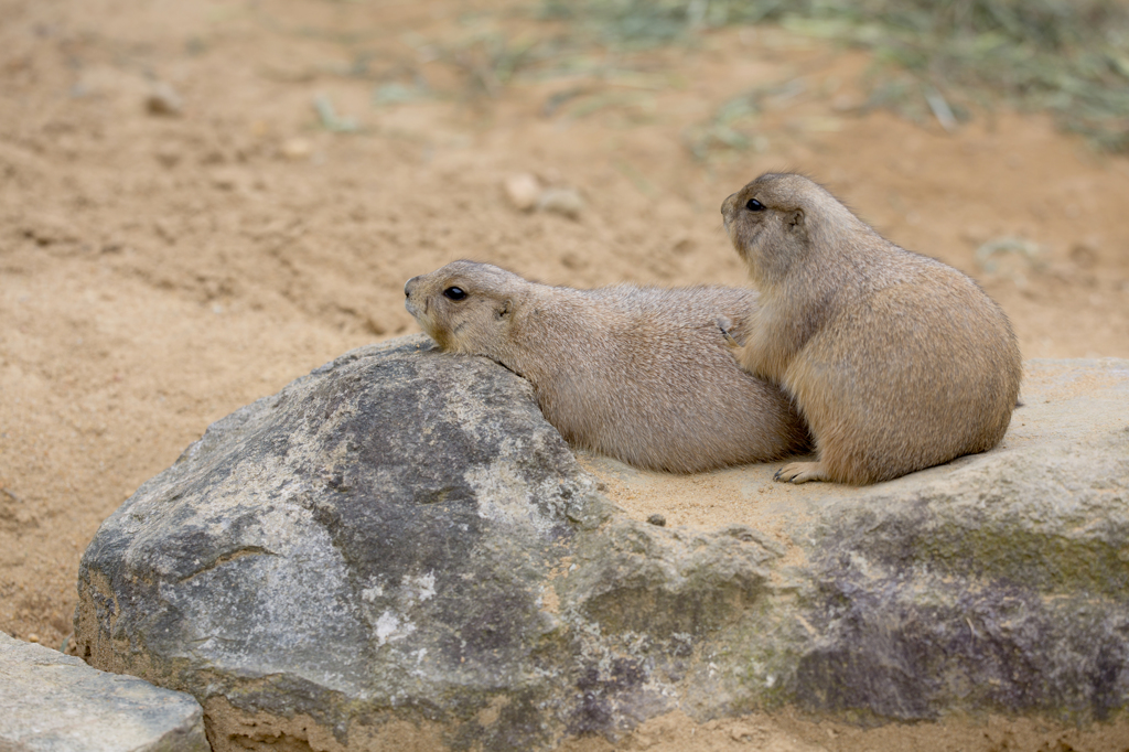
[[[718,318],[746,322],[756,294],[724,287],[621,285],[579,290],[583,362],[535,383],[545,417],[575,444],[630,464],[693,472],[784,456],[806,429],[778,387],[734,361]],[[574,334],[572,336],[576,336]],[[552,339],[552,338],[549,338]],[[611,447],[615,447],[612,451]]]

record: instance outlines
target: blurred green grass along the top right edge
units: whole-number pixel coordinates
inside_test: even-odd
[[[542,0],[541,15],[622,49],[779,24],[873,51],[868,106],[952,128],[1003,98],[1129,151],[1127,0]]]

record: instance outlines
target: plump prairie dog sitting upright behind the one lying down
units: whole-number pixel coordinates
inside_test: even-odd
[[[826,190],[765,174],[721,206],[760,290],[738,361],[795,401],[817,460],[777,479],[874,483],[996,446],[1019,392],[1007,316],[969,277],[879,236]]]

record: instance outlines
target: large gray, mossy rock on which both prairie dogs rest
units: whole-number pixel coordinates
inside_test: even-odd
[[[723,471],[747,510],[698,531],[615,506],[510,371],[423,336],[361,348],[215,423],[103,524],[79,652],[194,696],[217,751],[551,749],[784,703],[1112,718],[1129,361],[1026,369],[990,453],[763,504],[774,466]]]

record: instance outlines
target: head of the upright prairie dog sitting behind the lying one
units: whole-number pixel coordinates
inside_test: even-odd
[[[819,224],[835,222],[841,210],[821,185],[791,173],[765,173],[721,204],[725,230],[754,282],[780,282],[793,264],[812,251]]]

